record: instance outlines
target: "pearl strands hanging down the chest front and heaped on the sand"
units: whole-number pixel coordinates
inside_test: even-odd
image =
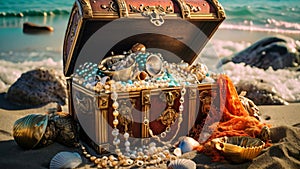
[[[89,154],[89,152],[87,152],[86,148],[82,146],[81,149],[83,151],[84,156],[88,158],[91,162],[93,162],[97,166],[97,168],[118,168],[118,167],[128,167],[128,166],[130,167],[136,166],[138,168],[140,167],[147,168],[149,166],[155,166],[156,168],[159,168],[159,165],[161,164],[166,164],[168,161],[176,160],[178,157],[173,153],[171,153],[169,149],[170,147],[172,147],[170,143],[177,135],[177,132],[171,140],[167,142],[163,142],[160,140],[158,136],[154,136],[152,134],[152,130],[150,129],[150,127],[148,127],[150,135],[154,139],[156,139],[159,143],[161,143],[163,146],[159,147],[156,145],[155,142],[151,142],[147,146],[143,145],[141,148],[135,147],[134,149],[131,149],[132,145],[129,141],[130,134],[127,131],[125,131],[125,133],[123,134],[125,140],[124,142],[125,153],[122,152],[120,148],[120,144],[121,144],[121,140],[119,138],[120,133],[119,133],[119,129],[117,128],[119,124],[118,116],[120,114],[118,110],[119,103],[117,102],[118,93],[115,91],[115,89],[116,89],[115,85],[112,84],[113,91],[111,93],[111,99],[113,100],[112,108],[113,108],[114,120],[113,120],[113,130],[111,134],[114,137],[113,145],[115,146],[114,154],[116,156],[114,155],[109,155],[108,157],[92,156],[91,154]],[[178,125],[180,125],[182,121],[182,111],[183,111],[183,102],[184,102],[183,97],[185,92],[186,92],[185,87],[183,86],[183,89],[181,91],[182,102],[180,105],[181,108],[179,113],[180,122],[178,123]],[[144,119],[143,123],[146,126],[148,126],[149,120]],[[178,126],[178,128],[180,128],[180,126]]]

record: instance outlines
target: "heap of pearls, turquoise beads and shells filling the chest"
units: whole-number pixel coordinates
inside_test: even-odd
[[[136,46],[142,46],[135,49]],[[112,84],[117,92],[140,91],[189,86],[209,78],[206,65],[185,62],[169,63],[160,53],[150,53],[142,44],[135,45],[126,55],[105,58],[99,64],[86,62],[73,74],[73,80],[95,92],[110,93]]]

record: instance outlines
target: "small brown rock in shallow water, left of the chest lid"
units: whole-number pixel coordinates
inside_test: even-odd
[[[54,28],[51,26],[40,26],[31,22],[23,23],[23,33],[40,34],[53,32]]]

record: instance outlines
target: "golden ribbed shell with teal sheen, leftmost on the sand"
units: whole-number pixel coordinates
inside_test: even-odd
[[[14,139],[19,146],[32,149],[42,139],[47,124],[47,115],[30,114],[18,119],[13,126]]]

